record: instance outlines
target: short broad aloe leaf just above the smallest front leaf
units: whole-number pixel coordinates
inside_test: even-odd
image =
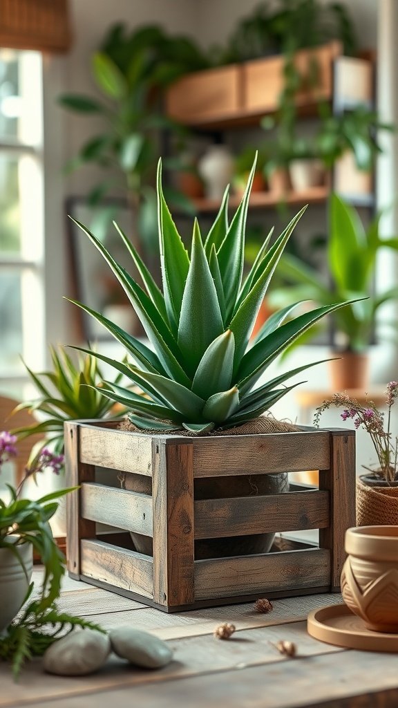
[[[207,347],[193,377],[192,390],[203,399],[227,391],[232,383],[235,341],[230,329]]]

